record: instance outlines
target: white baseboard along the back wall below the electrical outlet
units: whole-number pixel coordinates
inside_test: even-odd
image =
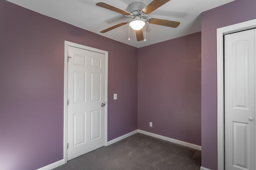
[[[165,140],[165,141],[169,141],[169,142],[176,143],[176,144],[179,144],[179,145],[183,145],[183,146],[186,146],[186,147],[190,147],[190,148],[193,148],[193,149],[197,149],[197,150],[202,149],[202,147],[199,146],[199,145],[195,145],[195,144],[192,144],[192,143],[187,143],[187,142],[184,142],[184,141],[179,141],[177,139],[172,139],[172,138],[169,138],[169,137],[165,137],[165,136],[162,136],[162,135],[157,135],[157,134],[150,133],[150,132],[147,132],[147,131],[138,130],[138,133],[142,133],[144,135],[156,137],[158,139],[162,139],[162,140]]]

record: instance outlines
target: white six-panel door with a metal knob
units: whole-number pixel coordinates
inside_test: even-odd
[[[68,46],[67,160],[104,146],[105,55]]]

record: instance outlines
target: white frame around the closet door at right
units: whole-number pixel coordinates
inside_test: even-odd
[[[224,35],[256,27],[256,19],[217,29],[218,170],[224,170]]]

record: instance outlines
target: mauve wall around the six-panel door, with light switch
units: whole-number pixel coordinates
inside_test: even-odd
[[[0,0],[1,170],[63,158],[65,40],[109,52],[108,141],[138,129],[137,48]]]

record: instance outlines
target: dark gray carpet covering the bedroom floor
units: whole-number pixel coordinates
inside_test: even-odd
[[[199,170],[201,151],[136,133],[54,170]]]

